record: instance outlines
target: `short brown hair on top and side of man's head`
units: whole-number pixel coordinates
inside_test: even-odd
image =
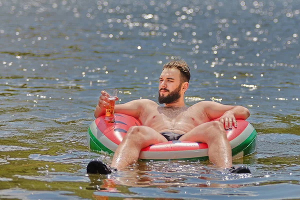
[[[162,70],[165,68],[179,69],[180,81],[189,82],[190,79],[189,67],[187,66],[187,63],[184,60],[171,59],[162,66]]]

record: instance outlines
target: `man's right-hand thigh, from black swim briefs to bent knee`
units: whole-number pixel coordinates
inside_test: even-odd
[[[209,121],[194,127],[187,133],[183,134],[179,140],[208,143],[211,137],[223,132],[225,132],[225,130],[222,127],[221,122]]]

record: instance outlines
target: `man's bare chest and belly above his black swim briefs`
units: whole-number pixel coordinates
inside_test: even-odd
[[[199,106],[164,107],[152,101],[143,107],[139,120],[157,132],[184,134],[195,126],[207,122],[208,117]]]

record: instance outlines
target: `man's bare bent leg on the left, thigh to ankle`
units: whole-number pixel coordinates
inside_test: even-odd
[[[118,170],[133,164],[142,148],[167,141],[164,136],[148,126],[131,126],[112,158],[111,166]]]

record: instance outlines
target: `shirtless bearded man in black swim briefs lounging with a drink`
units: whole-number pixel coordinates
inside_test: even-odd
[[[93,159],[87,165],[87,173],[108,174],[113,170],[121,170],[137,161],[142,148],[168,140],[207,143],[210,162],[218,167],[229,168],[231,172],[250,173],[248,167],[232,167],[231,147],[225,133],[225,129],[237,127],[237,118],[249,117],[248,109],[212,101],[200,101],[186,107],[184,92],[188,88],[189,78],[186,62],[171,60],[163,65],[159,76],[158,102],[164,103],[164,106],[149,99],[116,104],[116,113],[134,116],[143,125],[128,129],[114,152],[110,166]],[[107,105],[107,94],[101,91],[94,116],[103,115]],[[211,121],[218,117],[218,121]]]

